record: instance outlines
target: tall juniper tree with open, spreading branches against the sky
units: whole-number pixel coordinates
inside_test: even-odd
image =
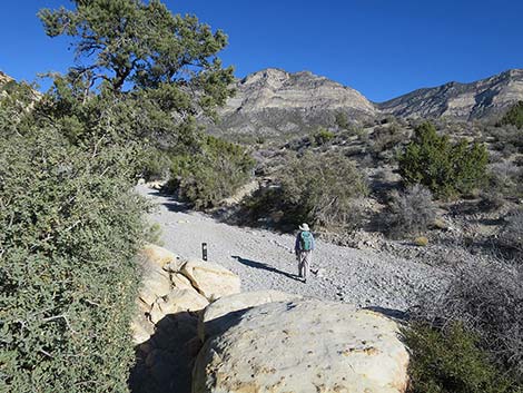
[[[86,104],[102,95],[98,109],[107,100],[135,106],[128,119],[135,131],[187,136],[197,115],[215,117],[231,96],[233,69],[217,57],[227,45],[221,30],[213,32],[195,16],[175,16],[158,0],[72,2],[73,10],[39,12],[48,36],[73,38],[75,66],[55,85],[55,108],[63,98]]]

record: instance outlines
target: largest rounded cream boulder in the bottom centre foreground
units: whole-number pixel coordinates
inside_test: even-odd
[[[193,393],[398,393],[408,354],[392,320],[343,303],[269,303],[211,337]]]

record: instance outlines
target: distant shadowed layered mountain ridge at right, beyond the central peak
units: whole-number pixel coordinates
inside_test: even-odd
[[[495,118],[523,100],[523,69],[513,69],[472,83],[448,82],[377,104],[382,114],[403,118]]]

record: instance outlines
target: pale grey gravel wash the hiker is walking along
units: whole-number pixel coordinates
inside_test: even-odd
[[[296,279],[294,236],[227,225],[198,212],[185,210],[176,200],[146,186],[140,195],[158,205],[149,214],[161,226],[162,245],[182,257],[201,257],[208,244],[209,261],[241,278],[243,291],[278,289],[357,306],[404,311],[416,304],[417,295],[438,291],[446,274],[422,261],[406,261],[386,253],[373,253],[316,242],[307,283]]]

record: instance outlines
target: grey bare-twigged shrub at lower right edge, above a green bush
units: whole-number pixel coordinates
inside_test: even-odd
[[[523,269],[501,263],[467,265],[445,293],[427,293],[413,318],[446,330],[461,323],[507,375],[523,383]]]

